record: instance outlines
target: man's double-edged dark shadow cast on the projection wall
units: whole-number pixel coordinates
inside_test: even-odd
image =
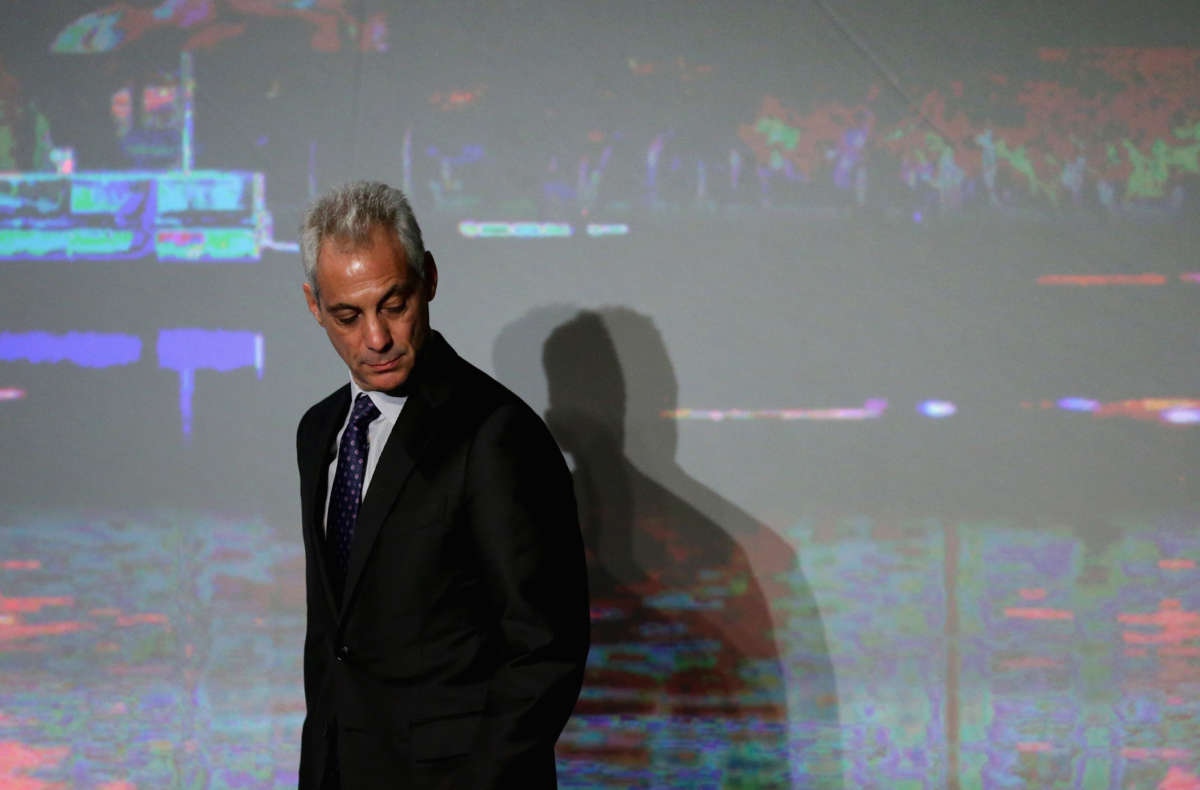
[[[841,788],[812,593],[787,543],[676,462],[677,384],[653,321],[535,310],[500,333],[494,363],[572,462],[593,646],[559,741],[569,774],[589,786]]]

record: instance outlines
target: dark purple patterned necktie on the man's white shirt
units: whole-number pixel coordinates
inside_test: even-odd
[[[354,522],[358,521],[359,502],[362,499],[362,477],[367,466],[367,426],[377,417],[379,409],[366,393],[360,393],[354,401],[354,411],[346,424],[346,430],[342,431],[342,441],[337,445],[337,471],[334,473],[334,487],[329,493],[329,514],[325,517],[325,545],[329,552],[326,556],[334,561],[337,589],[346,582]]]

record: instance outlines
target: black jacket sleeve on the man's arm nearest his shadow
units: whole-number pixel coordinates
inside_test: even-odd
[[[466,485],[502,651],[473,786],[554,786],[553,746],[578,699],[589,640],[570,472],[545,424],[510,403],[476,433]]]

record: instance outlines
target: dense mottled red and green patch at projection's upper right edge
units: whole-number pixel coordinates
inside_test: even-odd
[[[1200,198],[1200,50],[1040,49],[1036,77],[980,73],[899,120],[865,101],[763,98],[739,137],[772,182],[832,181],[858,207],[1181,216]],[[731,166],[734,155],[731,152]],[[732,172],[732,167],[731,167]],[[734,184],[731,180],[731,184]]]

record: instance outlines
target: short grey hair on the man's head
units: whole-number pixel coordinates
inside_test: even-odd
[[[354,181],[323,194],[305,211],[300,225],[300,259],[304,276],[314,297],[317,288],[317,255],[325,239],[352,245],[371,241],[376,227],[391,228],[400,239],[408,265],[425,279],[425,243],[421,226],[413,216],[413,207],[404,193],[379,181]]]

